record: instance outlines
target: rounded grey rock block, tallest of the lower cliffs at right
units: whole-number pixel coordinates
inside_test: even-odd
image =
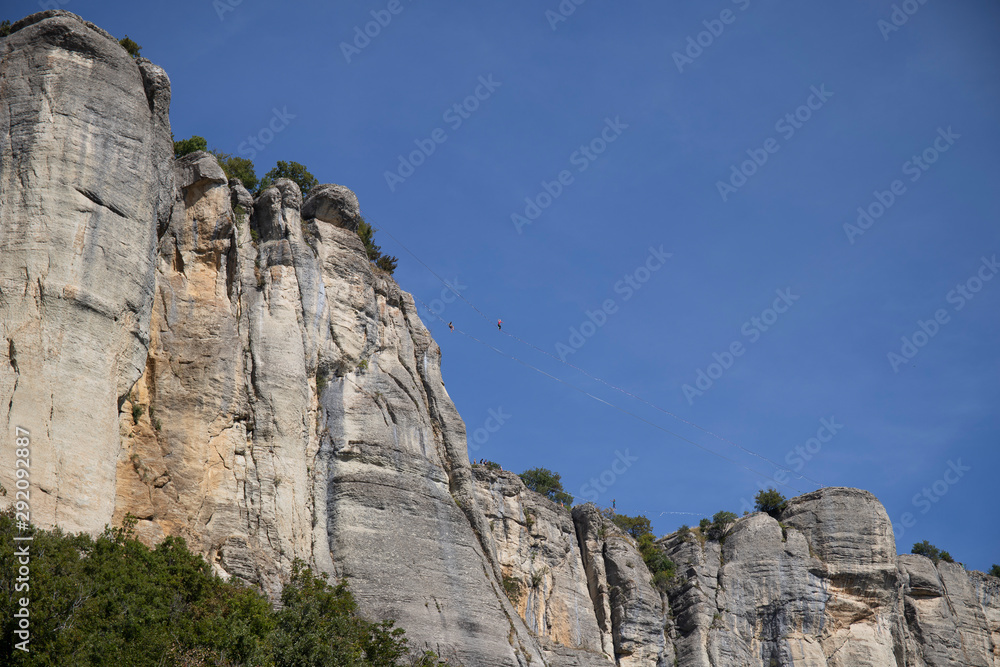
[[[737,521],[720,542],[664,541],[680,567],[670,597],[691,665],[893,665],[899,618],[892,528],[871,494],[823,489],[782,524]]]

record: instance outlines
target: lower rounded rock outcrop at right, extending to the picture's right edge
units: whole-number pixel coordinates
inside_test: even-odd
[[[719,541],[691,531],[660,545],[678,565],[679,665],[998,664],[1000,582],[897,558],[885,509],[866,491],[821,489],[778,519],[739,519]]]

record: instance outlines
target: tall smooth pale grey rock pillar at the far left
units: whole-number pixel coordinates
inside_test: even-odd
[[[0,437],[31,433],[36,522],[96,530],[149,342],[170,86],[68,12],[13,30],[0,40]],[[6,488],[13,456],[0,448]]]

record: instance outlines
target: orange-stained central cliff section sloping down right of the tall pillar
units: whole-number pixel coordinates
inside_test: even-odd
[[[367,613],[464,664],[541,663],[476,530],[440,351],[350,229],[353,193],[317,189],[303,220],[291,181],[247,211],[213,156],[174,172],[117,516],[272,594],[296,558],[349,577]]]

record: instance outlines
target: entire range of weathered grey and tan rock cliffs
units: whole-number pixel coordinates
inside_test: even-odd
[[[0,483],[34,520],[128,513],[274,595],[350,578],[452,663],[997,667],[1000,581],[897,557],[878,501],[822,489],[724,539],[634,541],[470,466],[440,350],[339,185],[259,196],[174,160],[166,75],[66,12],[0,39]],[[0,498],[4,504],[11,496]]]

